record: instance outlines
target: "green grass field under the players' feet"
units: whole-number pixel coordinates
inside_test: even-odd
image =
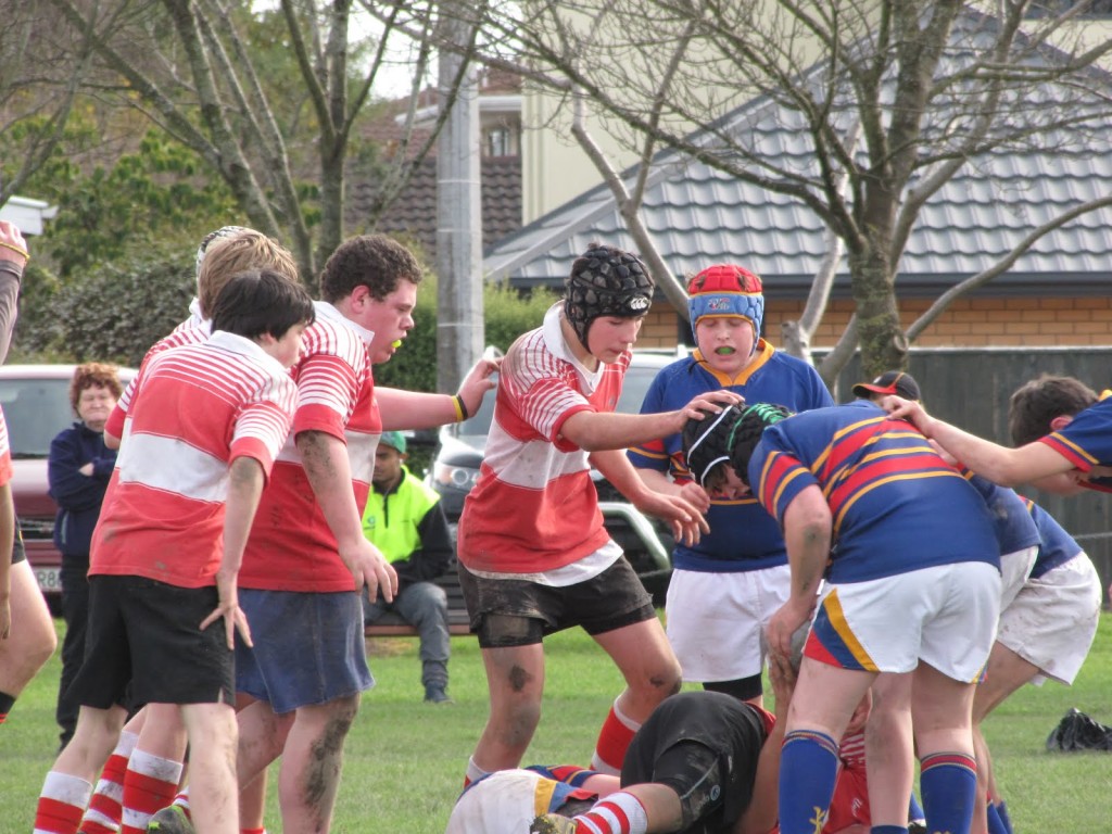
[[[378,685],[363,702],[348,736],[337,834],[440,834],[464,767],[486,719],[478,647],[453,638],[451,706],[421,703],[416,639],[370,646]],[[620,679],[578,632],[546,643],[544,716],[529,762],[586,763]],[[57,751],[53,723],[60,662],[56,656],[0,727],[0,834],[31,831],[42,777]],[[990,717],[986,735],[1015,830],[1020,834],[1108,834],[1112,831],[1112,753],[1051,754],[1046,735],[1070,707],[1112,724],[1112,615],[1072,688],[1025,687]],[[271,791],[267,822],[281,831]],[[294,834],[292,832],[290,834]]]

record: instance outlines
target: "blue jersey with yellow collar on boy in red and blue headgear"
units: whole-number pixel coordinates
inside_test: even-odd
[[[662,368],[645,394],[641,413],[673,411],[699,394],[719,388],[737,391],[749,403],[780,403],[793,411],[834,405],[814,368],[762,339],[754,361],[733,380],[715,374],[697,350]],[[678,480],[691,479],[679,435],[634,447],[627,455],[637,468],[656,469]],[[711,532],[697,545],[676,545],[673,563],[677,568],[734,573],[787,563],[780,525],[755,498],[713,500],[706,520]]]

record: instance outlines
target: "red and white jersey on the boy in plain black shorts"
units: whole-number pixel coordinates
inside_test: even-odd
[[[216,332],[151,357],[135,394],[89,573],[212,585],[228,467],[251,457],[271,471],[297,386],[254,341]]]

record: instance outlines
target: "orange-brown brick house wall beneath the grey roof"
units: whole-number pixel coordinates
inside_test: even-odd
[[[926,311],[930,299],[905,299],[900,317],[910,326]],[[845,331],[853,311],[848,300],[831,301],[812,337],[815,348],[831,348]],[[765,298],[765,335],[780,342],[785,321],[800,318],[802,300]],[[672,348],[683,336],[691,341],[687,325],[672,307],[658,301],[642,327],[638,347]],[[1054,347],[1112,345],[1112,298],[969,298],[952,304],[915,340],[915,347]]]

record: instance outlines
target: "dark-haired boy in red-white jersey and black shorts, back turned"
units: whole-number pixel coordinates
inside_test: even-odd
[[[162,351],[140,371],[93,534],[78,727],[47,775],[36,831],[77,831],[130,689],[180,705],[197,826],[238,832],[232,642],[250,632],[237,574],[296,407],[287,368],[312,319],[300,286],[245,272],[218,296],[208,341]]]

